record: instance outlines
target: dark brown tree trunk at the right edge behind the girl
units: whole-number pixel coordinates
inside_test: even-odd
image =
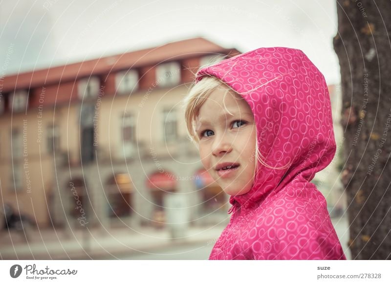
[[[337,0],[334,49],[353,260],[391,259],[391,2]]]

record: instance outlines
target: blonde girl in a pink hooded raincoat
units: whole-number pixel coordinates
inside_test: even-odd
[[[184,107],[201,162],[232,204],[210,260],[346,260],[310,183],[336,143],[325,78],[301,50],[259,48],[203,67]]]

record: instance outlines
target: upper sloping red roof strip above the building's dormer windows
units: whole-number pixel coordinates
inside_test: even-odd
[[[42,87],[56,84],[60,81],[72,81],[76,78],[107,74],[110,71],[150,66],[163,61],[179,60],[214,52],[232,53],[233,55],[239,53],[236,49],[223,48],[204,38],[194,38],[64,66],[55,66],[6,76],[4,78],[3,91]]]

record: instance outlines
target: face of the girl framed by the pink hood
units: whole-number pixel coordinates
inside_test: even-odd
[[[195,122],[205,169],[225,193],[247,193],[253,185],[256,162],[256,126],[250,106],[239,94],[218,88],[202,104]],[[218,170],[221,163],[238,167]]]

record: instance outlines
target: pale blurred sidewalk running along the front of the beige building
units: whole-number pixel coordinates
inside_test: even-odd
[[[0,236],[1,260],[76,260],[115,258],[116,255],[142,253],[157,248],[198,243],[211,245],[225,226],[190,227],[184,238],[172,239],[167,229],[93,228],[69,232],[34,230],[28,243],[16,232]],[[211,246],[212,248],[212,246]]]

